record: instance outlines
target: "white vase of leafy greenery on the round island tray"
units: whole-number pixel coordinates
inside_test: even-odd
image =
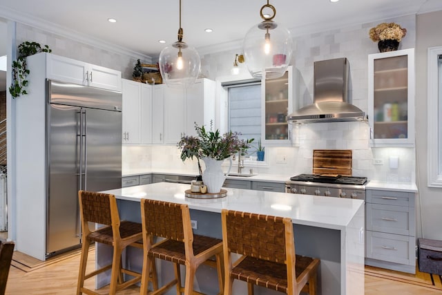
[[[198,170],[202,175],[202,181],[207,186],[209,193],[219,193],[222,184],[229,174],[231,162],[227,175],[221,169],[221,164],[225,159],[230,158],[231,155],[249,149],[251,140],[240,140],[238,132],[229,131],[221,135],[220,131],[212,130],[206,131],[204,126],[198,126],[195,123],[195,131],[198,134],[195,136],[183,136],[177,146],[181,149],[180,158],[184,162],[186,159],[196,158],[198,161]],[[200,160],[206,166],[202,172]]]

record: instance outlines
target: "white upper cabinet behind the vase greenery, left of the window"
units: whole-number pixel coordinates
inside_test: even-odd
[[[190,88],[164,88],[164,144],[177,144],[185,135],[196,135],[198,126],[215,120],[215,82],[198,79]]]

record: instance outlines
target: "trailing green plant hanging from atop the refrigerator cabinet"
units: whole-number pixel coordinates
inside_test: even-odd
[[[12,61],[12,84],[9,87],[9,93],[13,98],[28,94],[25,87],[28,86],[26,77],[29,75],[29,69],[26,65],[26,57],[36,53],[50,53],[49,46],[41,47],[37,42],[25,41],[18,46],[17,60]]]

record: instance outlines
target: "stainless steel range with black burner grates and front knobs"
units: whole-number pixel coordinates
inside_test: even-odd
[[[365,200],[367,178],[300,174],[285,182],[286,193]]]

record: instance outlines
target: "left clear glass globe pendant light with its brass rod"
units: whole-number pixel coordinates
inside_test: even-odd
[[[180,28],[178,41],[167,46],[160,53],[160,73],[167,86],[173,88],[189,88],[200,73],[200,55],[192,46],[182,41],[181,0]]]

